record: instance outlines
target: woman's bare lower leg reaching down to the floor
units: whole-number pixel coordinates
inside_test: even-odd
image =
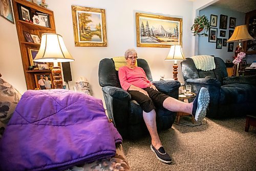
[[[157,133],[156,111],[154,109],[148,113],[143,111],[143,119],[146,123],[148,131],[150,132],[152,145],[156,149],[159,149],[162,146],[162,143]]]

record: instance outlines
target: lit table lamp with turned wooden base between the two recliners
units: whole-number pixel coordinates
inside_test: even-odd
[[[174,80],[178,80],[178,78],[177,78],[177,74],[178,74],[177,61],[183,61],[183,60],[186,60],[186,59],[183,55],[181,45],[172,45],[172,46],[170,46],[170,51],[169,51],[167,57],[165,58],[165,61],[174,61],[174,65],[173,65],[173,67],[174,67],[174,71],[173,71],[174,77],[173,77],[173,79]]]

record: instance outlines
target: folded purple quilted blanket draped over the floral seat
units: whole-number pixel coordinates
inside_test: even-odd
[[[28,90],[0,140],[0,170],[59,170],[115,155],[122,138],[102,101],[74,91]]]

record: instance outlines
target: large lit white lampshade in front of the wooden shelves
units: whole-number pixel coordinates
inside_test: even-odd
[[[62,36],[56,33],[44,33],[35,62],[71,62],[74,61],[66,48]]]

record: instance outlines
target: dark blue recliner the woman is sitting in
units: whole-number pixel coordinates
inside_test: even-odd
[[[138,66],[143,68],[148,80],[152,81],[150,67],[143,59],[137,60]],[[161,92],[178,99],[180,82],[178,81],[153,81]],[[99,84],[102,87],[103,96],[108,111],[108,116],[123,138],[138,139],[148,134],[143,120],[142,108],[132,101],[131,95],[123,90],[118,79],[118,71],[115,70],[112,59],[103,59],[99,63]],[[172,127],[176,112],[166,109],[156,109],[157,129]]]

